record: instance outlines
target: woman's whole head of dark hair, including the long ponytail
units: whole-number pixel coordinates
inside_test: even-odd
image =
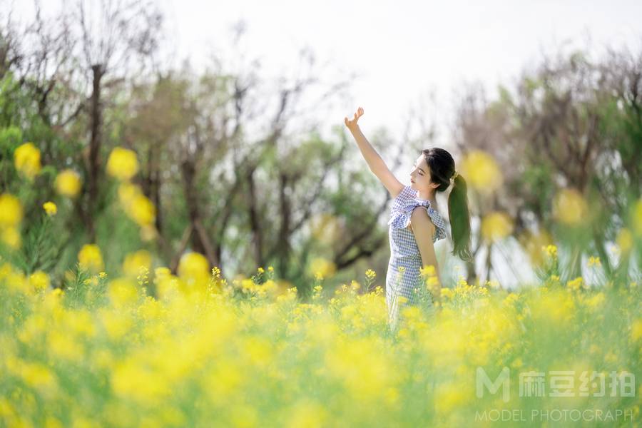
[[[454,160],[448,151],[433,147],[422,150],[430,168],[432,183],[439,184],[437,192],[443,192],[450,185],[455,173]],[[470,213],[468,210],[468,186],[462,174],[457,173],[450,195],[448,195],[448,218],[452,233],[452,255],[465,261],[472,261],[470,254]]]

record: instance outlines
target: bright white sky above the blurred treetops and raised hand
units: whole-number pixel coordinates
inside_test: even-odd
[[[598,52],[642,41],[636,0],[163,0],[163,7],[180,53],[195,64],[209,49],[225,51],[238,19],[247,25],[244,48],[275,75],[294,69],[297,51],[310,46],[338,76],[360,76],[327,127],[363,106],[362,129],[385,126],[392,136],[432,90],[438,108],[427,113],[444,126],[464,81],[479,80],[493,95],[496,83],[510,83],[554,46],[586,46],[588,35]],[[330,84],[335,75],[321,77]]]

